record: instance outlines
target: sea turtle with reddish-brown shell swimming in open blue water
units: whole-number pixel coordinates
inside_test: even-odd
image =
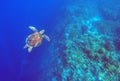
[[[43,38],[50,41],[50,38],[43,34],[45,30],[38,31],[35,27],[29,26],[31,30],[33,30],[34,33],[30,34],[26,38],[26,44],[24,48],[28,48],[28,52],[31,52],[33,47],[37,47],[42,43]]]

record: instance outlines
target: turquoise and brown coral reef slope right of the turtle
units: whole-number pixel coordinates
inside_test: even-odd
[[[43,81],[119,81],[120,40],[115,36],[120,23],[103,20],[96,8],[84,5],[64,10],[49,48],[51,70]]]

